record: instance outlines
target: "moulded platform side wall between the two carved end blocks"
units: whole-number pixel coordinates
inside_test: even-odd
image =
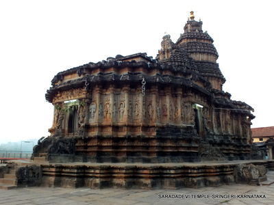
[[[42,165],[46,187],[175,189],[234,182],[234,165],[119,164]]]

